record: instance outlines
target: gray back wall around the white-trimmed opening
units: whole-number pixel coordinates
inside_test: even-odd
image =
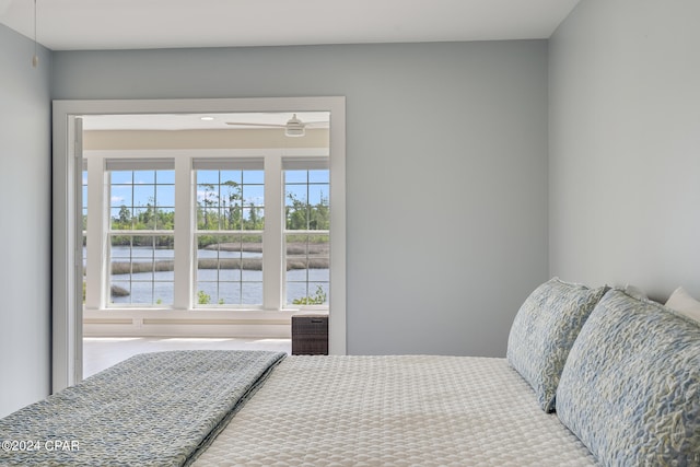
[[[347,97],[348,350],[503,355],[547,278],[547,42],[55,54],[55,98]]]

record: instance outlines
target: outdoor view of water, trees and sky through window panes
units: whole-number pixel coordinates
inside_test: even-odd
[[[231,160],[218,163],[231,165]],[[249,161],[247,162],[250,165]],[[107,164],[107,307],[171,307],[175,297],[175,171],[172,161]],[[196,165],[196,164],[195,164]],[[329,172],[282,170],[281,198],[266,206],[262,161],[253,168],[192,170],[191,307],[261,306],[265,301],[266,214],[282,219],[282,304],[327,305],[329,294]],[[217,164],[213,164],[214,166]],[[235,164],[234,164],[235,165]],[[259,167],[257,167],[259,165]],[[313,164],[312,164],[313,165]],[[303,164],[302,164],[303,166]],[[83,221],[88,190],[83,174]],[[185,187],[187,188],[187,187]],[[182,189],[178,188],[178,189]],[[277,205],[277,208],[275,208]],[[179,208],[178,208],[179,209]],[[186,209],[186,208],[182,208]],[[86,229],[83,231],[88,238]],[[88,248],[83,249],[85,260]]]

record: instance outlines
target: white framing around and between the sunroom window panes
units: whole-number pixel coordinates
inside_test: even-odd
[[[88,281],[85,293],[84,316],[91,318],[117,317],[131,319],[148,319],[151,312],[186,311],[192,317],[213,319],[228,317],[249,317],[250,313],[258,313],[259,319],[276,319],[289,316],[290,312],[314,311],[327,312],[326,305],[291,305],[285,303],[287,279],[283,252],[284,236],[290,233],[284,225],[284,178],[285,166],[295,168],[307,166],[314,170],[329,165],[329,152],[326,149],[230,149],[230,150],[89,150],[84,151],[88,170],[88,212],[98,212],[101,215],[88,217],[88,269],[100,270],[100,280]],[[175,229],[174,231],[128,231],[129,234],[158,235],[159,233],[175,236],[175,294],[173,304],[109,304],[109,237],[116,232],[110,227],[109,207],[109,166],[121,170],[138,171],[142,167],[139,161],[173,161],[175,171]],[[195,172],[200,161],[217,161],[222,164],[228,161],[258,160],[265,171],[265,212],[266,223],[262,232],[265,245],[264,264],[264,297],[262,304],[237,306],[198,306],[197,305],[197,271],[195,268],[197,234],[196,225],[197,180]],[[136,161],[132,168],[129,163]],[[235,163],[235,162],[233,162]],[[155,163],[159,165],[158,163]],[[287,164],[287,165],[285,165]],[[271,179],[272,182],[269,182]],[[273,180],[279,183],[273,183]],[[186,180],[186,182],[185,182]],[[332,186],[330,184],[330,186]],[[332,189],[332,188],[331,188]],[[329,194],[330,196],[330,194]],[[332,201],[331,201],[332,202]],[[180,208],[183,207],[183,208]],[[332,217],[332,207],[330,209]],[[269,214],[269,215],[268,215]],[[331,220],[332,222],[332,220]],[[121,231],[118,231],[121,232]],[[218,231],[213,231],[218,232]],[[255,231],[257,232],[257,231]],[[328,233],[331,231],[304,231],[311,233]],[[90,238],[98,238],[91,243]],[[332,238],[332,236],[331,236]],[[178,271],[190,271],[189,275]],[[329,271],[330,273],[330,271]],[[332,281],[330,281],[332,283]],[[183,292],[183,291],[186,291]],[[260,314],[259,312],[265,312]]]

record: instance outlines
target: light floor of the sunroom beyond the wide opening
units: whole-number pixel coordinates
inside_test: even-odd
[[[273,350],[291,353],[291,339],[86,337],[83,339],[83,377],[138,353],[163,350]]]

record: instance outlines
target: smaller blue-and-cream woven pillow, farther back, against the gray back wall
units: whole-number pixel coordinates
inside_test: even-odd
[[[537,402],[555,410],[555,396],[569,350],[607,288],[550,279],[525,300],[508,339],[506,358],[535,389]]]

